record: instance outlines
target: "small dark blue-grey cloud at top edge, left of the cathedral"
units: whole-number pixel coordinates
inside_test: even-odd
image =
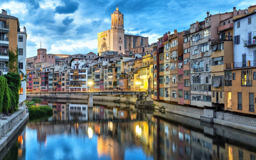
[[[59,5],[55,8],[57,13],[60,14],[68,14],[68,13],[74,13],[79,6],[79,3],[72,0],[63,0],[64,5]]]

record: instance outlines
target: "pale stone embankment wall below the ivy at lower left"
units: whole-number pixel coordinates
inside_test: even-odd
[[[25,103],[22,103],[12,116],[5,116],[0,119],[0,151],[12,140],[27,121],[28,113]]]

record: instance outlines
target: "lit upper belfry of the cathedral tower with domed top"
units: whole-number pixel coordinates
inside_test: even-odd
[[[111,14],[111,29],[124,29],[124,14],[118,10]]]

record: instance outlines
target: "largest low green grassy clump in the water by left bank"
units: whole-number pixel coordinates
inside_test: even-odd
[[[52,108],[49,106],[31,106],[28,108],[29,116],[52,115]]]

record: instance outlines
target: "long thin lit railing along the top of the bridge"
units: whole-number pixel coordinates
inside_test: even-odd
[[[26,92],[102,92],[102,91],[136,91],[145,92],[148,91],[147,88],[119,88],[119,89],[104,89],[104,88],[91,88],[91,89],[27,89]]]

